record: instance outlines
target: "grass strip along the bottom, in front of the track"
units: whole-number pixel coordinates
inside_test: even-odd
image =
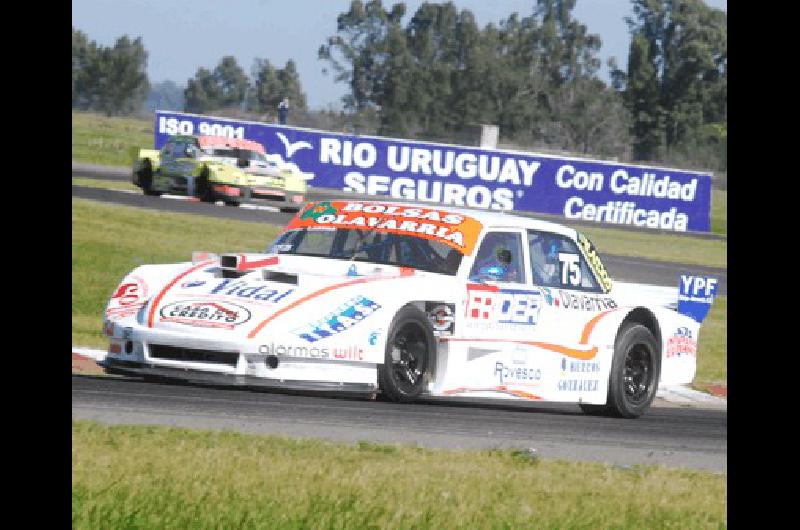
[[[725,528],[727,475],[72,423],[72,527]]]

